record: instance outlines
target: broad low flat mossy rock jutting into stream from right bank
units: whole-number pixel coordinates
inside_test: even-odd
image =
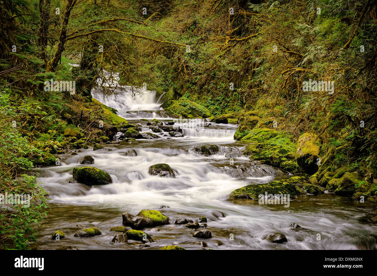
[[[284,181],[270,181],[267,184],[251,184],[231,192],[231,198],[258,199],[259,195],[267,194],[289,194],[291,198],[305,194],[305,192],[294,184]]]

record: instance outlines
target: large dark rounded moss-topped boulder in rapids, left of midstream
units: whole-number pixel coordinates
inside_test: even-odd
[[[107,172],[94,167],[74,168],[72,176],[74,180],[89,186],[105,185],[112,182],[112,179]]]

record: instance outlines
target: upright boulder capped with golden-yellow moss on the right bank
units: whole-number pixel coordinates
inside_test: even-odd
[[[296,162],[306,171],[317,171],[319,160],[319,142],[317,136],[311,133],[304,133],[297,141]]]

